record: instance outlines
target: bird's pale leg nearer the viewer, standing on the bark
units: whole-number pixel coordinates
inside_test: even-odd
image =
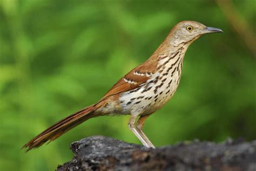
[[[131,129],[131,131],[137,136],[137,138],[143,143],[143,145],[147,148],[154,147],[152,143],[149,141],[148,138],[146,138],[146,135],[142,132],[139,131],[136,127],[136,119],[138,116],[132,116],[129,120],[128,126]],[[145,136],[145,137],[144,137]],[[146,139],[145,139],[146,138]],[[149,143],[150,142],[150,143]]]

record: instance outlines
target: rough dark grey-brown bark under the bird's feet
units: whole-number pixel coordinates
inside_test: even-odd
[[[255,171],[256,140],[183,142],[147,149],[133,143],[91,136],[73,142],[75,157],[57,170],[218,170]]]

